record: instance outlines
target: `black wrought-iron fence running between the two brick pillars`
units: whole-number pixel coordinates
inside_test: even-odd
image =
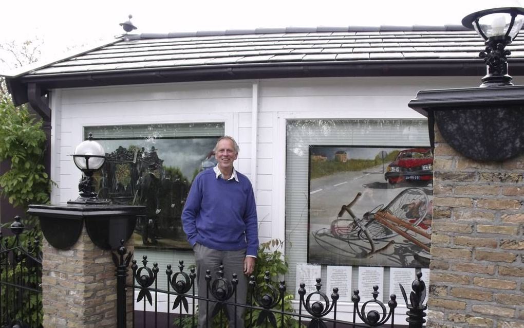
[[[339,290],[333,289],[331,295],[321,291],[322,283],[316,279],[315,291],[307,291],[305,285],[300,284],[298,293],[298,310],[290,311],[284,306],[286,295],[286,284],[280,281],[276,287],[270,281],[270,272],[266,272],[264,282],[257,284],[254,277],[248,283],[248,304],[239,304],[236,300],[236,275],[232,279],[223,276],[223,268],[217,273],[217,278],[213,279],[211,272],[206,271],[206,297],[200,298],[195,293],[195,269],[189,272],[184,271],[183,261],[180,261],[179,270],[173,272],[171,265],[167,266],[165,273],[160,273],[157,263],[152,267],[148,266],[147,256],[143,257],[142,265],[139,266],[136,260],[132,261],[133,283],[126,284],[128,267],[132,259],[132,253],[127,253],[124,246],[117,250],[118,255],[114,255],[113,260],[117,267],[117,327],[126,328],[126,287],[133,289],[133,297],[138,292],[136,302],[143,301],[143,309],[140,311],[140,318],[136,311],[133,312],[133,327],[196,327],[198,315],[196,314],[195,303],[197,300],[205,300],[207,313],[215,316],[213,324],[209,326],[226,327],[227,312],[226,305],[235,308],[245,308],[247,327],[290,327],[289,319],[292,318],[293,325],[297,327],[324,328],[324,327],[379,327],[387,326],[394,328],[405,325],[406,323],[395,322],[395,309],[397,308],[396,295],[391,294],[390,300],[384,304],[378,299],[378,287],[374,287],[372,299],[361,302],[361,295],[355,290],[352,296],[353,320],[343,321],[337,319],[340,311],[337,309],[339,300]],[[165,274],[167,283],[159,287],[158,278],[160,274]],[[405,289],[400,285],[402,297],[407,304],[409,328],[422,328],[425,323],[424,304],[426,288],[424,281],[421,280],[422,273],[418,272],[417,277],[411,284],[412,291],[409,298]],[[159,313],[158,303],[159,294],[167,295],[167,314]],[[190,301],[191,300],[191,306]],[[133,300],[133,304],[135,300]],[[146,308],[149,304],[153,311]],[[373,308],[372,310],[369,310]],[[378,309],[378,310],[377,310]],[[167,315],[167,318],[165,317]],[[161,318],[163,316],[163,318]],[[167,319],[167,320],[166,320]],[[236,319],[235,319],[236,320]],[[236,322],[234,323],[236,326]]]

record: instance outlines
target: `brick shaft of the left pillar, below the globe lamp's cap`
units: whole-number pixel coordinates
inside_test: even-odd
[[[126,248],[134,251],[133,246]],[[70,249],[56,249],[44,240],[42,252],[43,326],[116,327],[116,278],[111,251],[95,246],[84,227]],[[132,290],[127,289],[127,293],[132,303]],[[127,310],[130,322],[132,306],[128,305]]]

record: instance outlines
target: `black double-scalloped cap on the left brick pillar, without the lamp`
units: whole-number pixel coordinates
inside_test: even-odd
[[[68,249],[85,228],[93,243],[102,249],[116,249],[135,229],[137,216],[145,206],[51,204],[29,205],[28,214],[38,216],[43,236],[51,246]]]

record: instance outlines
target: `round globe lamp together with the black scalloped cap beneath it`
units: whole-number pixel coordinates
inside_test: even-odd
[[[96,197],[93,173],[104,164],[105,151],[93,141],[91,133],[77,146],[73,160],[83,173],[78,185],[80,196],[67,204],[29,205],[28,213],[38,216],[43,236],[55,248],[72,247],[85,225],[96,246],[117,249],[133,234],[136,218],[144,214],[145,206],[113,205]]]

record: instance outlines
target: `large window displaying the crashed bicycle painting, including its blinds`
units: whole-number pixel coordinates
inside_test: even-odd
[[[286,147],[290,286],[296,289],[297,266],[321,272],[324,284],[335,277],[328,272],[351,267],[351,291],[362,283],[359,268],[375,267],[388,297],[390,272],[398,271],[391,268],[428,267],[433,158],[426,121],[292,120]],[[406,225],[388,226],[392,216]]]

